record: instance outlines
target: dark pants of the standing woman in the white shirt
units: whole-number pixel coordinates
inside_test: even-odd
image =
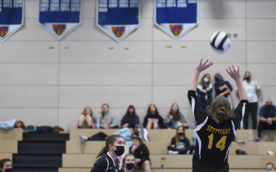
[[[258,103],[249,103],[248,104],[248,109],[247,111],[244,112],[244,129],[248,129],[248,116],[249,112],[252,117],[252,128],[256,129],[257,128],[257,110],[258,110]]]

